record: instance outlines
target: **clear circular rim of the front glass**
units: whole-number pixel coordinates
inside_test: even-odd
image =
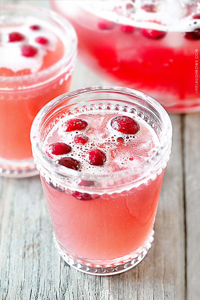
[[[164,132],[165,134],[162,135],[162,138],[160,140],[160,146],[157,149],[157,151],[149,157],[147,160],[145,160],[142,163],[139,163],[137,168],[128,168],[124,170],[120,170],[117,172],[113,173],[107,173],[107,174],[90,174],[86,172],[79,172],[77,170],[69,169],[66,168],[56,162],[54,162],[51,158],[48,157],[48,155],[43,151],[42,149],[42,143],[40,141],[40,133],[38,132],[39,129],[39,124],[42,121],[42,118],[44,117],[45,113],[48,112],[48,109],[53,108],[56,104],[60,103],[62,100],[70,99],[72,97],[76,97],[82,94],[89,94],[91,91],[93,92],[114,92],[114,93],[127,93],[129,95],[133,96],[139,96],[141,99],[145,98],[149,104],[153,105],[153,107],[156,107],[162,115],[163,121],[166,123],[164,126]],[[86,96],[87,97],[87,96]],[[75,98],[76,99],[76,98]],[[108,98],[109,99],[109,98]],[[113,99],[114,100],[114,99]],[[84,101],[84,100],[83,100]],[[87,98],[85,98],[85,101],[87,101]],[[117,99],[116,99],[117,101]],[[76,101],[77,102],[77,101]],[[75,102],[75,103],[76,103]],[[68,102],[68,104],[72,105],[73,102]],[[32,127],[31,127],[31,133],[30,133],[30,138],[31,138],[31,144],[32,144],[32,152],[33,152],[33,157],[35,158],[35,161],[37,163],[37,158],[39,155],[39,160],[40,160],[40,165],[44,167],[45,170],[49,171],[50,168],[54,168],[54,172],[57,173],[59,176],[63,177],[74,177],[74,178],[82,178],[86,180],[105,180],[105,178],[120,178],[122,175],[127,176],[130,175],[130,171],[133,172],[138,172],[141,169],[144,169],[144,166],[147,165],[151,167],[151,170],[153,170],[153,166],[157,165],[160,161],[162,161],[162,158],[166,156],[166,159],[163,161],[162,169],[166,167],[166,164],[169,160],[169,155],[171,153],[171,141],[172,141],[172,123],[170,120],[170,117],[166,110],[162,107],[161,104],[159,104],[156,100],[151,98],[150,96],[139,92],[137,90],[131,89],[131,88],[123,88],[119,86],[93,86],[93,87],[88,87],[88,88],[81,88],[77,89],[74,91],[70,91],[68,93],[64,93],[56,98],[54,98],[52,101],[47,103],[36,115],[35,119],[33,120]],[[159,158],[159,159],[158,159]],[[153,161],[153,163],[151,163]],[[160,168],[158,168],[160,169]],[[156,172],[155,172],[156,173]]]

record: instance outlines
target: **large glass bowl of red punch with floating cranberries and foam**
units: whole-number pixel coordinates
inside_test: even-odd
[[[94,71],[141,90],[168,111],[200,110],[200,2],[51,0],[72,23]]]

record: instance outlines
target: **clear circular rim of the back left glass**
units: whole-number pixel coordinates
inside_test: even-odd
[[[54,71],[56,71],[57,69],[59,69],[63,64],[67,64],[70,65],[70,61],[73,58],[73,56],[76,54],[77,52],[77,45],[78,45],[78,37],[76,34],[76,31],[73,27],[73,25],[66,20],[64,17],[62,17],[60,14],[58,14],[57,12],[54,12],[52,9],[49,8],[43,8],[43,7],[39,7],[39,6],[34,6],[34,5],[27,5],[27,4],[6,4],[6,5],[1,5],[0,6],[0,10],[1,10],[1,15],[3,15],[2,13],[2,9],[12,9],[12,8],[16,8],[16,11],[20,8],[22,9],[29,9],[29,10],[34,10],[35,12],[42,12],[45,13],[45,15],[47,17],[51,17],[54,21],[58,22],[59,25],[62,26],[62,28],[66,31],[68,30],[68,32],[70,32],[70,35],[73,37],[74,39],[74,43],[71,44],[70,47],[70,51],[68,53],[64,53],[63,57],[61,59],[58,60],[58,62],[54,63],[52,66],[36,72],[36,73],[32,73],[32,74],[28,74],[28,75],[20,75],[20,76],[0,76],[0,81],[2,82],[17,82],[17,81],[25,81],[25,80],[30,80],[30,79],[34,79],[34,78],[40,78],[44,75],[47,75],[48,73],[52,73]]]

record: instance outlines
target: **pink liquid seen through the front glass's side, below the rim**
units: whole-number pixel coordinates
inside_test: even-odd
[[[55,190],[41,177],[53,229],[64,252],[111,260],[142,246],[153,229],[163,175],[164,171],[149,185],[130,192],[88,201]]]

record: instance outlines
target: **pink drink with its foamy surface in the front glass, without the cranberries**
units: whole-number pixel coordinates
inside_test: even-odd
[[[81,172],[100,175],[136,166],[159,146],[154,130],[140,118],[137,119],[140,129],[133,135],[122,134],[110,127],[111,119],[116,114],[106,114],[104,111],[99,115],[92,114],[78,114],[78,118],[88,122],[88,128],[81,131],[88,137],[86,144],[75,145],[73,138],[78,131],[65,133],[58,122],[44,141],[44,151],[53,142],[65,142],[72,147],[72,151],[65,155],[52,155],[54,161],[61,157],[78,159]],[[118,142],[119,137],[124,139],[123,143]],[[106,154],[107,160],[103,166],[92,166],[85,161],[87,149],[96,147]],[[63,192],[53,188],[41,176],[53,230],[63,251],[73,259],[79,257],[82,261],[83,257],[83,260],[93,261],[94,266],[97,260],[104,261],[101,266],[102,263],[106,266],[109,260],[118,257],[129,255],[130,259],[131,252],[143,246],[153,230],[163,175],[164,170],[155,180],[146,180],[138,187],[133,184],[131,189],[124,187],[120,192],[117,186],[109,183],[111,179],[108,178],[105,182],[108,180],[111,185],[111,194],[101,195],[96,190],[93,194],[87,194],[88,200],[79,197],[83,195],[80,192],[81,183],[77,190],[76,187],[73,191],[66,187],[66,192]],[[89,188],[83,193],[88,191]]]

